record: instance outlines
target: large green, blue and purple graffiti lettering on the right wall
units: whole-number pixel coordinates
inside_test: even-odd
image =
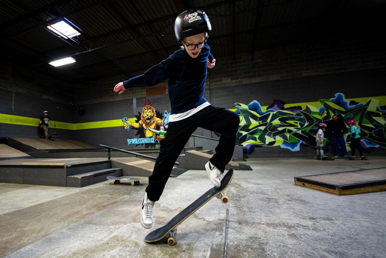
[[[385,97],[382,98],[384,100]],[[366,134],[361,140],[365,152],[377,147],[386,148],[386,106],[379,106],[379,100],[375,98],[359,103],[336,93],[334,98],[320,99],[318,107],[314,106],[316,104],[284,107],[285,102],[274,100],[265,111],[256,100],[248,105],[235,105],[235,112],[240,117],[236,141],[244,146],[248,154],[253,153],[254,148],[263,146],[280,146],[291,151],[299,151],[300,145],[315,148],[318,124],[327,123],[332,115],[337,115],[345,123],[351,119],[359,121],[361,130]],[[348,136],[347,130],[347,150],[350,149]],[[327,141],[325,139],[328,146]]]

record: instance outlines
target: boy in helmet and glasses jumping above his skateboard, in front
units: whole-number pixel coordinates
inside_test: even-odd
[[[174,162],[197,127],[221,134],[216,154],[205,165],[209,180],[216,187],[220,187],[225,165],[232,158],[239,117],[234,112],[210,105],[203,97],[207,68],[213,68],[216,61],[207,45],[211,30],[209,18],[203,10],[189,9],[179,14],[174,32],[181,49],[143,75],[114,87],[114,92],[121,94],[126,88],[152,86],[169,79],[171,114],[142,202],[141,223],[145,228],[153,226],[154,202],[159,200]]]

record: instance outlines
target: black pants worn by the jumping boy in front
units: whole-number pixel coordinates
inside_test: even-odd
[[[224,171],[225,165],[232,159],[239,122],[239,116],[234,112],[212,105],[183,120],[169,122],[166,136],[160,141],[160,152],[153,173],[149,177],[149,185],[146,187],[147,198],[152,201],[159,200],[174,162],[176,162],[191,134],[198,127],[221,134],[215,149],[216,154],[213,155],[210,162],[219,170]],[[203,169],[205,168],[203,167]]]

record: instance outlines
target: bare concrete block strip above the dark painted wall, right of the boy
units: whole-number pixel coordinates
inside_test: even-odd
[[[211,88],[384,67],[386,40],[358,35],[320,41],[313,48],[296,45],[216,60]]]

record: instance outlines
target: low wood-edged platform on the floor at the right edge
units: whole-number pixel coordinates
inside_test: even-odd
[[[295,177],[295,184],[337,195],[381,192],[386,190],[386,168]]]

